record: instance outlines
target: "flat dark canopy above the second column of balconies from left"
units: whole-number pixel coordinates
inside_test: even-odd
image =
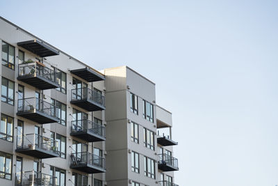
[[[101,75],[99,72],[90,68],[80,68],[76,70],[70,70],[70,72],[78,77],[81,77],[87,82],[98,82],[105,79],[104,75]]]

